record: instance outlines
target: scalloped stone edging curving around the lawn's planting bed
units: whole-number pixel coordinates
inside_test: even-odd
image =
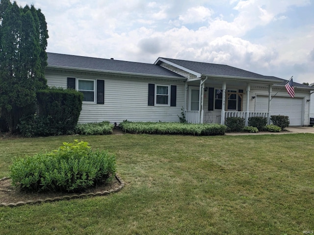
[[[17,203],[1,203],[0,207],[17,207],[17,206],[23,206],[23,205],[27,205],[27,204],[40,204],[40,203],[45,203],[45,202],[56,202],[56,201],[61,201],[61,200],[70,200],[70,199],[75,199],[75,198],[84,198],[84,197],[90,197],[90,196],[105,196],[108,195],[110,193],[114,193],[114,192],[118,192],[120,191],[123,187],[124,187],[124,181],[120,178],[120,176],[118,176],[117,174],[115,175],[115,178],[118,180],[118,182],[120,183],[120,186],[114,189],[110,189],[110,190],[105,190],[103,192],[89,192],[89,193],[81,193],[81,194],[72,194],[72,195],[65,195],[65,196],[61,196],[61,197],[48,197],[46,199],[37,199],[37,200],[28,200],[26,202],[20,201]],[[10,179],[10,177],[3,177],[0,179],[0,181],[4,181],[4,180],[8,180]]]

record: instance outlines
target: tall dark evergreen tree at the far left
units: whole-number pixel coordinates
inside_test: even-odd
[[[40,9],[0,0],[0,118],[11,133],[35,113],[36,91],[47,87],[47,39]]]

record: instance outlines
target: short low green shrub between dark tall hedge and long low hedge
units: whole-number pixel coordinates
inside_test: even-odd
[[[110,135],[112,134],[113,124],[108,121],[99,123],[78,123],[75,133],[79,135]]]

